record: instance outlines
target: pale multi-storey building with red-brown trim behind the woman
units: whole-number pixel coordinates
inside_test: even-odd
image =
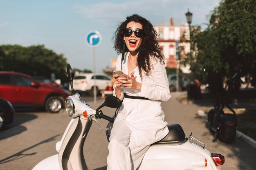
[[[189,39],[188,24],[175,24],[173,18],[170,22],[154,25],[159,34],[159,47],[164,54],[166,67],[177,68],[177,60],[182,60],[186,53],[190,51],[190,44],[180,43],[181,36],[185,33],[185,38]],[[184,73],[190,73],[189,66],[180,66]]]

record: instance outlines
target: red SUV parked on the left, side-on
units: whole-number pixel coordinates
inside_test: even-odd
[[[0,97],[9,100],[14,108],[44,107],[50,113],[57,113],[70,92],[47,84],[40,84],[29,75],[0,71]]]

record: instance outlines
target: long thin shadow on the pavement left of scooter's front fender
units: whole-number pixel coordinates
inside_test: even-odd
[[[2,163],[7,163],[7,162],[11,162],[11,161],[15,161],[15,160],[17,160],[17,159],[21,159],[21,158],[26,157],[26,156],[29,156],[29,155],[35,155],[36,152],[29,153],[29,154],[25,154],[24,152],[26,152],[27,150],[30,150],[30,149],[32,149],[32,148],[34,148],[34,147],[36,147],[36,146],[38,146],[38,145],[40,145],[40,144],[53,141],[53,140],[55,140],[55,138],[58,137],[58,136],[60,136],[60,134],[55,135],[55,136],[53,136],[53,137],[50,137],[50,138],[48,138],[48,139],[46,139],[46,140],[44,140],[44,141],[41,141],[41,142],[38,143],[38,144],[35,144],[35,145],[33,145],[33,146],[29,147],[29,148],[26,148],[26,149],[24,149],[24,150],[21,150],[20,152],[17,152],[17,153],[15,153],[15,154],[13,154],[13,155],[7,157],[7,158],[4,158],[4,159],[0,160],[0,164],[2,164]]]

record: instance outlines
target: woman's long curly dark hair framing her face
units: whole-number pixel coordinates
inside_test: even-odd
[[[113,39],[115,39],[115,50],[119,54],[122,53],[124,44],[124,30],[126,29],[126,25],[132,21],[140,23],[144,31],[139,56],[137,57],[139,75],[142,78],[142,69],[145,71],[146,75],[148,75],[149,71],[151,70],[152,64],[150,63],[150,55],[159,58],[160,62],[164,62],[164,55],[161,53],[159,49],[159,44],[157,42],[157,31],[154,29],[153,25],[148,20],[137,14],[133,14],[131,16],[126,17],[126,20],[122,22],[115,31],[115,35],[113,37]],[[127,47],[124,52],[126,51],[128,51]]]

